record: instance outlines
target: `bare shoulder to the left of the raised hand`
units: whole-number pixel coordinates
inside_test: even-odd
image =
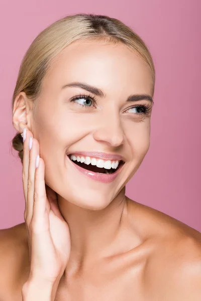
[[[0,230],[0,300],[21,300],[21,286],[29,272],[25,224]]]

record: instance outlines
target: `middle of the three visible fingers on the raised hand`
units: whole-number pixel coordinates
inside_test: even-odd
[[[31,148],[31,149],[30,149]],[[36,157],[39,155],[39,143],[37,139],[30,137],[29,140],[29,170],[28,170],[28,192],[27,192],[27,221],[32,219],[33,205],[34,205],[34,182],[35,182],[35,169]]]

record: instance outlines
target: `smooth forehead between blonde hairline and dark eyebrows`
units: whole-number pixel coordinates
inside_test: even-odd
[[[51,63],[48,81],[60,87],[79,81],[109,90],[152,91],[151,71],[134,51],[98,40],[77,40],[63,49]]]

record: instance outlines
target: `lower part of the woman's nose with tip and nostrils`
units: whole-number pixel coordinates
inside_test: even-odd
[[[93,130],[93,138],[103,141],[109,146],[117,147],[124,143],[125,134],[118,113],[110,113],[97,120],[96,129]]]

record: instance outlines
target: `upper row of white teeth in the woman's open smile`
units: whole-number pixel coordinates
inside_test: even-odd
[[[84,163],[86,165],[96,165],[99,168],[105,168],[107,170],[110,170],[111,168],[117,169],[120,161],[110,161],[110,160],[102,160],[102,159],[96,159],[96,158],[90,158],[90,157],[83,157],[83,156],[74,156],[70,155],[70,159],[72,161],[77,161]]]

